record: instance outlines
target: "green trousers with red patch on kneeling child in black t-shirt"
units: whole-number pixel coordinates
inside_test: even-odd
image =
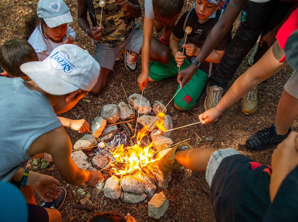
[[[190,61],[188,61],[188,59],[185,58],[180,70],[188,67],[189,65]],[[178,70],[179,67],[177,67],[175,58],[172,55],[171,61],[167,64],[161,64],[159,62],[150,62],[149,77],[155,81],[161,81],[164,78],[169,78],[173,75],[176,75],[178,73]],[[184,87],[174,97],[175,105],[179,107],[179,109],[181,110],[190,110],[191,107],[195,105],[195,102],[201,95],[207,78],[208,74],[198,69],[189,81],[189,83],[187,85],[184,85]],[[178,85],[176,92],[179,89],[180,85]]]

